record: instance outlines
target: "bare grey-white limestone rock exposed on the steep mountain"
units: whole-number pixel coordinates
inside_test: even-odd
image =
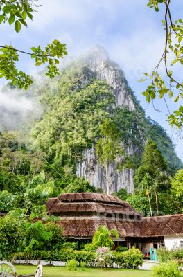
[[[112,62],[106,51],[100,46],[96,46],[91,54],[87,56],[87,66],[91,69],[96,78],[99,80],[105,80],[110,85],[112,93],[116,98],[116,107],[128,107],[130,111],[135,109],[135,103],[132,99],[132,95],[128,91],[128,87],[125,81],[125,76],[120,67]],[[131,146],[126,149],[127,154],[139,153],[136,146]],[[125,188],[128,193],[132,193],[134,189],[133,176],[134,170],[124,170],[123,172],[117,172],[116,163],[113,163],[108,168],[112,181],[110,184],[110,193],[114,193],[121,188]],[[94,147],[87,149],[83,153],[81,161],[78,163],[76,170],[78,177],[85,177],[96,188],[102,188],[106,193],[106,179],[105,172],[101,166],[99,166]]]

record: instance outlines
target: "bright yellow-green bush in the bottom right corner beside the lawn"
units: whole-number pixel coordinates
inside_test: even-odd
[[[177,262],[164,262],[153,267],[155,277],[179,277],[180,271]]]

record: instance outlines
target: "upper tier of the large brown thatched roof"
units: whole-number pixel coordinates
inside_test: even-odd
[[[58,198],[51,198],[47,203],[49,215],[129,215],[140,216],[127,202],[118,197],[99,193],[64,193]]]

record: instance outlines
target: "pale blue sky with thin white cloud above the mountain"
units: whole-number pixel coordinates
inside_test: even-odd
[[[173,19],[181,18],[183,1],[173,0],[171,10]],[[67,44],[69,56],[80,55],[96,44],[104,46],[112,60],[117,62],[141,101],[146,114],[159,122],[177,144],[178,156],[183,161],[182,139],[166,122],[167,109],[162,100],[147,105],[141,95],[146,84],[138,82],[143,72],[150,71],[157,64],[164,48],[164,30],[161,20],[163,10],[155,12],[147,8],[148,0],[40,0],[33,22],[28,28],[22,27],[15,33],[12,26],[1,24],[1,45],[12,44],[28,51],[30,47],[44,46],[53,39]],[[27,73],[36,73],[33,62],[21,55],[19,69]],[[177,78],[181,78],[182,69],[176,68]],[[164,70],[162,69],[162,74]],[[171,111],[176,105],[168,100]]]

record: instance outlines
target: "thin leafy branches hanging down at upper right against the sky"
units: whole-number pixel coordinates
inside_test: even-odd
[[[146,101],[150,102],[159,96],[160,99],[165,100],[165,96],[167,95],[169,98],[173,98],[174,102],[181,101],[183,98],[183,82],[181,80],[177,80],[174,77],[173,69],[170,69],[169,66],[169,57],[171,57],[170,65],[174,64],[183,64],[182,54],[183,54],[183,21],[182,19],[177,19],[173,22],[171,17],[170,10],[171,0],[149,0],[148,6],[150,8],[154,8],[156,12],[159,12],[159,6],[164,6],[164,20],[162,20],[162,24],[165,30],[165,47],[164,52],[162,54],[161,59],[159,60],[157,66],[152,73],[144,73],[146,77],[150,80],[150,84],[148,85],[146,91],[143,92],[143,95],[146,96]],[[165,78],[162,78],[162,75],[159,73],[159,66],[164,62],[164,67],[166,70],[166,79],[168,77],[168,81]],[[147,79],[141,79],[140,82],[144,82]],[[166,104],[167,105],[167,104]],[[183,107],[182,105],[170,114],[168,109],[168,123],[173,127],[176,126],[177,129],[180,129],[183,124]]]

